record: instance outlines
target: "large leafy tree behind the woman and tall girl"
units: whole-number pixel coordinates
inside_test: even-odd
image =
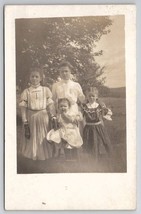
[[[101,36],[110,32],[108,16],[38,18],[16,20],[17,83],[27,84],[29,69],[42,67],[48,83],[58,77],[60,61],[68,60],[83,88],[99,86],[104,67],[95,61],[103,51],[95,52]]]

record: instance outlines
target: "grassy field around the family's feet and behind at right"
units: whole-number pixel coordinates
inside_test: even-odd
[[[18,155],[18,173],[61,173],[61,172],[126,172],[126,107],[125,98],[105,97],[102,99],[113,112],[112,121],[104,121],[112,144],[112,158],[95,163],[80,151],[77,162],[63,160],[33,161]],[[21,136],[20,111],[17,109],[17,143]],[[110,165],[107,164],[110,162]]]

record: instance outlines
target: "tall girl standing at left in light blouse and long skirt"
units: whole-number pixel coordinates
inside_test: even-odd
[[[21,153],[33,160],[45,160],[52,156],[52,145],[46,142],[49,116],[55,114],[52,93],[40,85],[42,71],[34,68],[30,73],[31,86],[23,91],[21,107],[23,131]]]

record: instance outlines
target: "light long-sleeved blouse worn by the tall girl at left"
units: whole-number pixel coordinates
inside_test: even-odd
[[[19,106],[30,110],[43,110],[51,103],[53,103],[53,100],[49,88],[43,86],[35,88],[31,86],[21,94]]]

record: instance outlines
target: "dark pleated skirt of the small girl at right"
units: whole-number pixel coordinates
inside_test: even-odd
[[[94,155],[110,154],[110,139],[103,124],[86,125],[83,132],[84,151]]]

